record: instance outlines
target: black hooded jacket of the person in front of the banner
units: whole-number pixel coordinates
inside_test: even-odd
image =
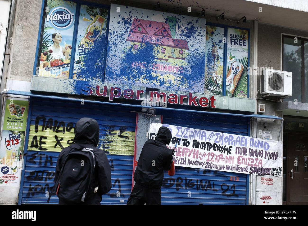
[[[172,163],[172,151],[166,147],[171,141],[171,131],[160,127],[155,140],[144,143],[137,168],[134,173],[136,184],[148,188],[161,188],[164,170],[169,170]]]

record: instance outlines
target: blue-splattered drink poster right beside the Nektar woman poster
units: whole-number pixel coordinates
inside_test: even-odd
[[[109,10],[81,5],[73,79],[103,78]]]

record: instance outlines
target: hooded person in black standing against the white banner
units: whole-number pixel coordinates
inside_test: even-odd
[[[172,163],[172,151],[166,147],[172,138],[167,127],[160,127],[155,140],[144,143],[137,168],[134,173],[136,182],[127,204],[160,204],[160,188],[163,184],[164,170]]]

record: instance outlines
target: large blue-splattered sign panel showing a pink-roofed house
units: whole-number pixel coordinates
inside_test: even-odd
[[[105,82],[204,92],[205,19],[132,7],[115,13],[116,7],[111,5]],[[168,17],[176,18],[175,25]]]

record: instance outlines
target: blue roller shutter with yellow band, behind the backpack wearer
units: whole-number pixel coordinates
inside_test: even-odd
[[[103,195],[102,204],[126,204],[131,193],[136,127],[136,113],[130,111],[137,109],[87,103],[81,105],[76,101],[42,98],[31,98],[30,105],[19,204],[58,203],[59,199],[51,193],[51,189],[60,146],[69,145],[74,137],[75,123],[81,117],[98,121],[98,147],[109,153],[107,158],[111,165],[112,188]],[[45,123],[43,118],[38,117],[45,117]],[[52,121],[47,125],[48,119]]]

